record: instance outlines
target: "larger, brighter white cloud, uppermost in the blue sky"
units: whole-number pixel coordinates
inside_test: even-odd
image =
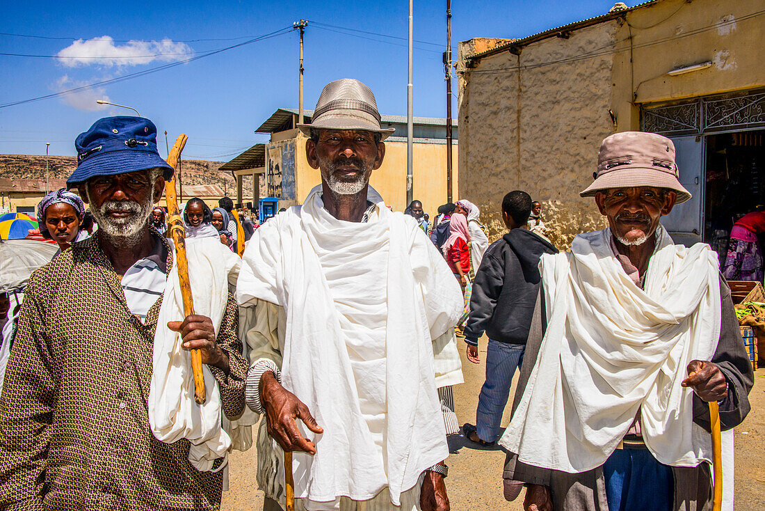
[[[67,67],[135,66],[151,61],[182,61],[194,51],[188,44],[161,41],[128,41],[115,44],[108,35],[88,40],[78,39],[58,52],[58,61]]]

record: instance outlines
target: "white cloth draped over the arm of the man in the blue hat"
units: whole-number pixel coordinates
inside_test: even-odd
[[[186,255],[194,313],[212,319],[217,334],[228,302],[229,283],[236,285],[241,260],[213,237],[186,240]],[[190,463],[197,470],[209,471],[217,459],[227,456],[231,440],[222,427],[218,383],[207,365],[202,365],[207,401],[203,405],[194,401],[190,352],[181,347],[181,334],[168,329],[168,321],[182,321],[185,317],[177,257],[173,257],[154,337],[149,425],[159,441],[190,441]],[[216,470],[224,466],[225,461]]]

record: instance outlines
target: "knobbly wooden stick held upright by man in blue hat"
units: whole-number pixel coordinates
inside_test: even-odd
[[[173,144],[173,149],[168,153],[168,165],[173,169],[181,158],[188,137],[180,135]],[[175,245],[175,257],[178,264],[178,280],[181,281],[181,296],[184,301],[184,315],[194,314],[194,299],[191,296],[191,284],[189,282],[189,267],[186,258],[186,231],[181,219],[181,211],[178,209],[177,195],[175,194],[175,175],[173,179],[164,183],[164,197],[168,200],[168,237],[173,239]],[[191,350],[191,370],[194,372],[194,401],[202,405],[206,399],[204,391],[204,375],[202,373],[202,353],[198,349]]]

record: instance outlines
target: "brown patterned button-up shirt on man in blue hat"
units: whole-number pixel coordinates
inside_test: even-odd
[[[32,275],[0,396],[0,509],[219,509],[223,470],[196,470],[188,441],[149,429],[160,305],[145,324],[130,313],[96,237]],[[237,322],[229,294],[217,342],[230,370],[210,367],[229,417],[244,406]]]

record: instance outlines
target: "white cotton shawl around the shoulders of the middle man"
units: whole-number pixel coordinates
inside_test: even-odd
[[[369,223],[338,221],[323,208],[320,192],[321,186],[314,188],[302,207],[289,208],[256,231],[243,257],[237,300],[284,307],[282,384],[324,428],[323,434],[313,434],[298,421],[317,454],[295,453],[295,496],[314,502],[339,496],[366,500],[387,486],[398,506],[401,493],[417,483],[420,473],[448,456],[431,339],[457,323],[461,292],[416,221],[389,211],[373,189],[369,200],[379,206],[379,217]],[[326,264],[333,252],[343,257],[350,252],[362,266],[365,255],[382,244],[388,244],[387,267],[372,269],[386,279],[387,292],[380,473],[356,395],[346,334],[318,254]],[[350,319],[363,323],[366,316],[360,311]]]

